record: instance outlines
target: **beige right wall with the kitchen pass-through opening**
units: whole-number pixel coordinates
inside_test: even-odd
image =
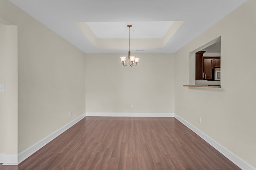
[[[175,113],[256,168],[256,1],[175,54]],[[189,53],[221,36],[221,89],[188,88]],[[202,123],[198,123],[198,116]]]

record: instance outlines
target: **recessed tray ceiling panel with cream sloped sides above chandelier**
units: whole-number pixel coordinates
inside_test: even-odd
[[[128,47],[129,44],[129,27],[127,25],[133,24],[136,25],[136,29],[132,29],[132,33],[138,32],[136,36],[131,36],[130,41],[132,43],[131,49],[162,49],[166,43],[171,39],[171,37],[178,31],[178,29],[181,27],[181,25],[184,23],[184,21],[168,21],[168,22],[162,22],[162,27],[157,27],[158,21],[156,22],[128,22],[123,23],[122,25],[126,26],[118,26],[117,22],[115,23],[115,30],[114,28],[109,29],[108,31],[105,31],[104,33],[101,33],[99,31],[101,28],[100,24],[95,26],[94,28],[91,28],[88,25],[88,22],[76,22],[76,26],[84,33],[84,35],[90,39],[92,44],[98,48],[98,49],[125,49]],[[141,25],[140,25],[140,24]],[[155,24],[154,29],[152,30],[146,30],[146,25]],[[97,23],[98,24],[98,23]],[[104,22],[103,25],[107,22]],[[109,23],[108,23],[109,24]],[[153,24],[153,25],[154,25]],[[93,25],[93,24],[92,24]],[[109,24],[111,25],[111,24]],[[168,26],[170,25],[170,27]],[[144,27],[143,27],[144,26]],[[126,29],[124,29],[124,28]],[[164,31],[163,27],[166,27]],[[118,31],[118,28],[122,31]],[[152,28],[152,27],[151,27]],[[92,30],[94,29],[94,31]],[[145,29],[145,30],[143,30]],[[158,29],[161,29],[159,32]],[[97,30],[97,31],[95,31]],[[104,30],[104,29],[102,29]],[[137,30],[137,31],[136,31]],[[108,32],[111,32],[111,35],[108,35]],[[150,33],[153,32],[153,33]],[[101,34],[96,36],[96,34]],[[126,34],[124,36],[123,34]],[[143,35],[143,36],[142,36]],[[124,36],[124,38],[122,38]],[[101,38],[98,38],[101,37]],[[120,38],[121,37],[121,38]],[[152,38],[152,37],[162,37],[162,38]]]

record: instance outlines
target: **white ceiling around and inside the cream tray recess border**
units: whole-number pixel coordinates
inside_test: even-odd
[[[125,36],[128,38],[127,23],[133,23],[132,40],[163,37],[172,25],[171,21],[184,21],[161,48],[152,47],[138,52],[136,51],[138,48],[135,45],[132,47],[131,44],[131,52],[175,53],[246,0],[10,0],[10,2],[85,53],[127,53],[128,44],[124,49],[99,48],[82,33],[76,22],[86,22],[96,37],[102,39]],[[150,27],[142,27],[147,22]],[[160,28],[158,24],[161,25]]]

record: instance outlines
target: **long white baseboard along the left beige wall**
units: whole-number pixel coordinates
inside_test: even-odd
[[[67,129],[69,129],[70,127],[72,127],[74,124],[76,124],[78,121],[82,120],[84,117],[86,117],[86,114],[82,114],[79,117],[77,117],[76,119],[74,119],[73,121],[71,121],[70,123],[64,125],[63,127],[61,127],[60,129],[58,129],[57,131],[53,132],[52,134],[48,135],[47,137],[45,137],[44,139],[42,139],[41,141],[35,143],[34,145],[32,145],[31,147],[29,147],[28,149],[20,152],[18,154],[18,164],[20,164],[23,160],[25,160],[26,158],[28,158],[30,155],[32,155],[34,152],[36,152],[37,150],[41,149],[44,145],[46,145],[47,143],[49,143],[50,141],[52,141],[53,139],[55,139],[56,137],[58,137],[58,135],[60,135],[61,133],[63,133],[64,131],[66,131]]]

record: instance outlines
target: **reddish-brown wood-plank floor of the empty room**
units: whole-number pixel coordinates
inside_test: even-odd
[[[86,117],[18,170],[240,170],[174,117]]]

